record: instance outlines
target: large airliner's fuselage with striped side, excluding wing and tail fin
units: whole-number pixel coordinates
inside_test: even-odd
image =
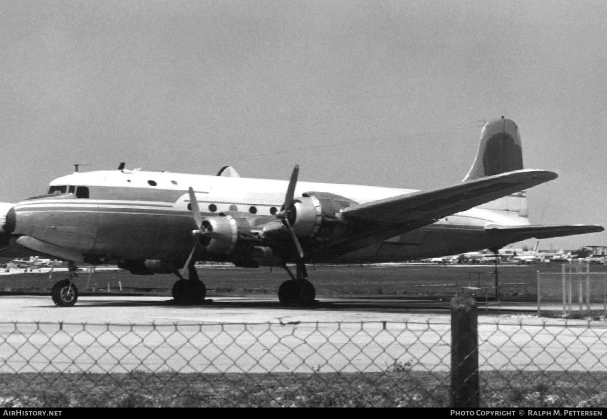
[[[280,210],[287,181],[126,170],[73,173],[52,181],[49,195],[17,204],[13,233],[72,249],[85,260],[183,260],[194,243],[188,187],[204,217],[230,213],[263,224]],[[359,204],[416,192],[301,181],[295,196],[311,191]],[[528,221],[517,213],[473,208],[326,261],[404,261],[484,249],[492,245],[483,232],[489,224]],[[198,257],[229,260],[204,252]],[[325,260],[317,255],[315,261]]]

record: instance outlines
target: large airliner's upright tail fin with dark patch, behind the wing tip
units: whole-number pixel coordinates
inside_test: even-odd
[[[521,169],[523,169],[523,149],[517,124],[502,116],[500,119],[487,122],[483,127],[476,158],[463,181]],[[519,216],[526,217],[527,196],[524,191],[513,193],[480,207],[518,213]]]

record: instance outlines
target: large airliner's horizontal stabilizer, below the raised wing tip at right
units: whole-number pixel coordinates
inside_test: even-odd
[[[551,238],[572,236],[576,234],[599,233],[605,230],[594,224],[572,224],[561,226],[487,226],[490,234],[498,234],[510,238],[510,241],[521,241],[528,238]]]

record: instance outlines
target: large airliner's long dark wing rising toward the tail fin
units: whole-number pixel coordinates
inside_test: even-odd
[[[546,170],[515,170],[429,192],[393,196],[342,210],[346,221],[364,224],[432,224],[439,218],[556,179]]]

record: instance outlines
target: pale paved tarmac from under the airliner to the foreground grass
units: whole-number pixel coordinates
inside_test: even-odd
[[[450,313],[388,300],[214,298],[175,306],[166,297],[0,296],[0,372],[381,371],[450,368]],[[604,321],[500,311],[478,317],[481,369],[607,370]]]

